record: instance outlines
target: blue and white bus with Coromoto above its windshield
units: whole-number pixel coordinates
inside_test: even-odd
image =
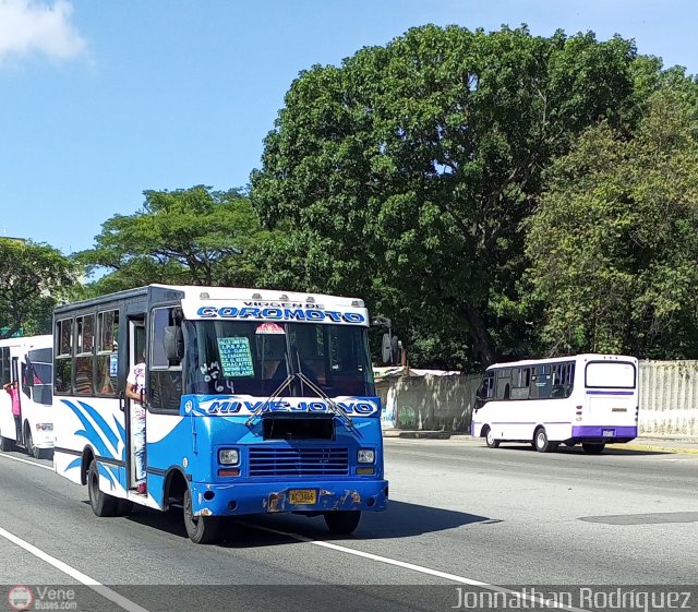
[[[205,543],[225,517],[322,515],[350,533],[385,509],[362,300],[151,285],[58,307],[53,326],[55,469],[97,516],[181,505]],[[142,355],[145,494],[124,394]]]

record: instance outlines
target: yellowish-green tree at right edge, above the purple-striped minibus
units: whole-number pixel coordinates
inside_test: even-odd
[[[634,137],[601,123],[552,166],[527,240],[549,352],[698,356],[698,120],[682,89],[653,94]]]

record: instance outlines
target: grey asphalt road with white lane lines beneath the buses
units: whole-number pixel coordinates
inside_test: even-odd
[[[46,468],[0,456],[0,590],[71,588],[77,610],[449,610],[479,583],[698,585],[698,455],[386,440],[389,509],[352,537],[265,516],[213,547],[177,513],[97,518],[85,488]]]

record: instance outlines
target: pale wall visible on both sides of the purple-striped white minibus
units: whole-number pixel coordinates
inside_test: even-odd
[[[640,433],[698,437],[698,361],[640,362]],[[378,382],[383,427],[469,432],[479,374]]]

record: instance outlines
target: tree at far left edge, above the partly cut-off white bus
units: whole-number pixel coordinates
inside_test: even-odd
[[[75,264],[52,247],[0,238],[0,338],[49,334],[53,307],[76,276]]]

